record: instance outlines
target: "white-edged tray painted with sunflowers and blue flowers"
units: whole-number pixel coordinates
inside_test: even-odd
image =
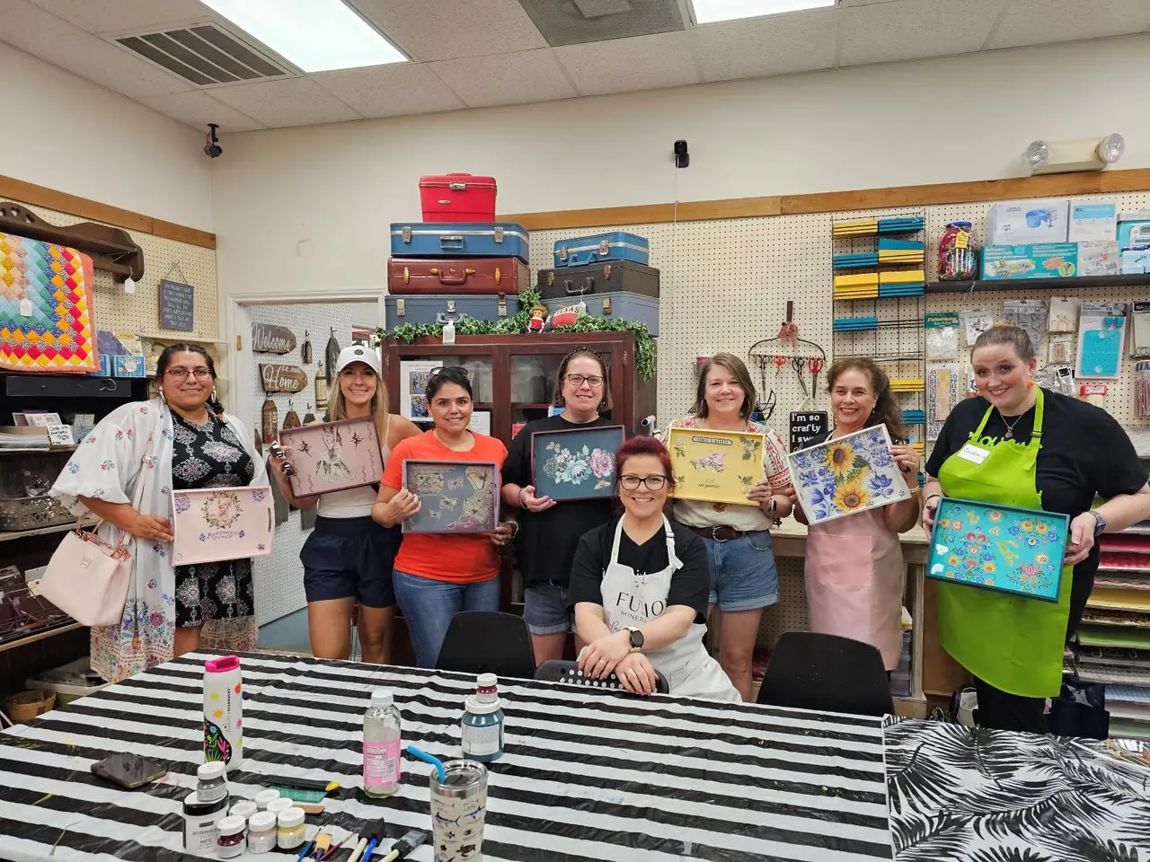
[[[811,524],[889,506],[911,495],[890,455],[885,425],[844,434],[788,457],[795,491]]]

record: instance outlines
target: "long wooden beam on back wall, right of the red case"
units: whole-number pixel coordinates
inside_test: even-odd
[[[1091,170],[1079,174],[1045,174],[1009,179],[982,179],[969,183],[861,188],[846,192],[784,194],[764,198],[646,203],[634,207],[566,209],[547,213],[500,215],[500,222],[515,222],[528,230],[604,228],[614,224],[656,224],[662,222],[708,222],[723,218],[839,213],[854,209],[894,209],[941,203],[975,203],[1017,198],[1052,198],[1079,194],[1142,192],[1150,190],[1150,168],[1133,170]]]

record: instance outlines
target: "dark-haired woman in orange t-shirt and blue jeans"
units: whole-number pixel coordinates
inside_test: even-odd
[[[371,517],[394,526],[420,510],[420,499],[402,486],[404,461],[493,461],[507,457],[503,441],[467,429],[471,382],[462,368],[442,368],[427,385],[435,428],[399,442],[383,471]],[[496,476],[494,493],[499,493]],[[460,610],[499,609],[499,552],[515,536],[514,522],[493,533],[405,533],[396,555],[393,584],[415,648],[415,663],[434,668],[451,618]]]

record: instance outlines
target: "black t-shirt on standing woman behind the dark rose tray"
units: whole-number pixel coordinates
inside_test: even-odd
[[[503,465],[504,483],[520,487],[531,484],[531,434],[537,431],[567,431],[596,425],[618,425],[599,417],[595,422],[568,422],[562,416],[532,420],[511,441]],[[588,530],[612,516],[612,499],[564,500],[546,511],[516,509],[519,534],[515,537],[515,562],[524,584],[552,580],[566,584],[575,556],[575,546]]]

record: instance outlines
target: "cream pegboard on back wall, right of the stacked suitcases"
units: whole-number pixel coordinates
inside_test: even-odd
[[[1150,208],[1150,192],[1095,194],[1073,198],[1075,201],[1116,201],[1119,210]],[[880,320],[905,318],[919,313],[988,310],[1000,317],[1007,299],[1048,299],[1049,291],[987,291],[971,293],[934,293],[920,299],[882,299],[858,302],[833,302],[831,256],[835,251],[851,251],[833,243],[831,222],[839,220],[926,214],[926,277],[937,278],[938,237],[949,222],[972,222],[981,241],[987,238],[987,217],[995,201],[953,206],[905,207],[881,210],[821,213],[810,215],[765,216],[710,222],[672,222],[641,225],[613,225],[593,229],[564,229],[531,233],[531,261],[535,269],[551,267],[553,245],[569,237],[624,230],[646,237],[651,244],[651,265],[661,271],[659,308],[659,425],[685,414],[695,399],[696,356],[730,351],[746,360],[757,341],[779,334],[785,316],[787,301],[795,303],[793,322],[799,338],[814,341],[827,353],[827,365],[841,355],[867,355],[875,333],[839,333],[831,331],[836,316],[875,314]],[[1135,297],[1134,294],[1138,294]],[[1147,288],[1105,288],[1078,291],[1067,285],[1066,295],[1086,301],[1130,301],[1150,293]],[[851,308],[854,310],[850,310]],[[876,349],[880,353],[921,351],[922,331],[880,330]],[[965,339],[960,339],[965,346]],[[968,362],[968,349],[961,361]],[[1125,355],[1125,352],[1124,352]],[[826,376],[818,380],[818,394],[805,398],[799,379],[790,364],[777,369],[773,364],[766,375],[747,363],[756,386],[774,390],[776,407],[769,424],[785,439],[788,417],[797,410],[828,410]],[[892,376],[920,377],[918,363],[884,365]],[[911,374],[914,371],[914,374]],[[811,385],[810,374],[805,383]],[[1150,430],[1150,420],[1137,418],[1134,409],[1133,363],[1124,359],[1122,375],[1109,380],[1106,409],[1124,426]],[[761,393],[761,394],[765,394]],[[760,394],[760,398],[761,398]],[[921,393],[900,394],[904,408],[921,409]],[[921,438],[921,429],[914,429]]]

